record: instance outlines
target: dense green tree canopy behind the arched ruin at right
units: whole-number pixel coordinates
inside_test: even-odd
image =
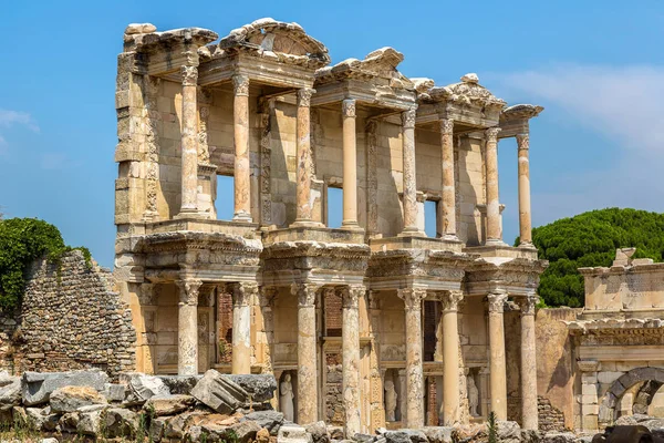
[[[519,239],[517,238],[517,244]],[[634,258],[662,261],[664,214],[608,208],[561,218],[532,229],[539,257],[549,260],[539,295],[547,306],[584,303],[583,267],[611,266],[615,249],[635,247]]]

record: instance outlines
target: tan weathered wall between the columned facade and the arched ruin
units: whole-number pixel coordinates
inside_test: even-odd
[[[562,321],[577,318],[580,309],[540,309],[536,317],[537,391],[551,408],[564,415],[564,426],[574,429],[577,364],[571,337]],[[540,420],[542,420],[540,418]]]

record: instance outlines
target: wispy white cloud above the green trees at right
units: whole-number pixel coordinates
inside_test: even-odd
[[[553,184],[548,187],[556,189],[533,190],[536,226],[612,206],[664,212],[664,68],[556,65],[497,80],[506,96],[549,106],[539,125],[542,120],[554,124],[551,112],[558,109],[564,120],[599,135],[596,146],[574,145],[569,137],[566,146],[558,147],[570,163],[575,162],[578,151],[596,152],[583,174],[551,171],[547,177],[531,177],[533,187],[538,181],[548,181]],[[604,141],[616,145],[618,157],[603,153]]]

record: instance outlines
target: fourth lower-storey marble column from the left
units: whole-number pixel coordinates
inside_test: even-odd
[[[341,289],[342,296],[342,392],[346,439],[362,431],[360,420],[360,313],[359,300],[364,287]]]

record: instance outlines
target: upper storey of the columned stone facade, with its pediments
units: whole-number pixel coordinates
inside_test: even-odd
[[[229,234],[325,227],[328,189],[339,187],[342,229],[365,240],[424,236],[434,200],[437,248],[501,247],[497,143],[517,137],[530,246],[528,122],[541,107],[508,107],[474,74],[448,86],[408,79],[402,61],[383,48],[331,65],[300,25],[271,19],[221,39],[127,28],[116,91],[120,237],[181,229],[174,220]],[[234,177],[232,202],[217,198],[218,175]],[[220,205],[234,207],[232,223],[217,222]]]

